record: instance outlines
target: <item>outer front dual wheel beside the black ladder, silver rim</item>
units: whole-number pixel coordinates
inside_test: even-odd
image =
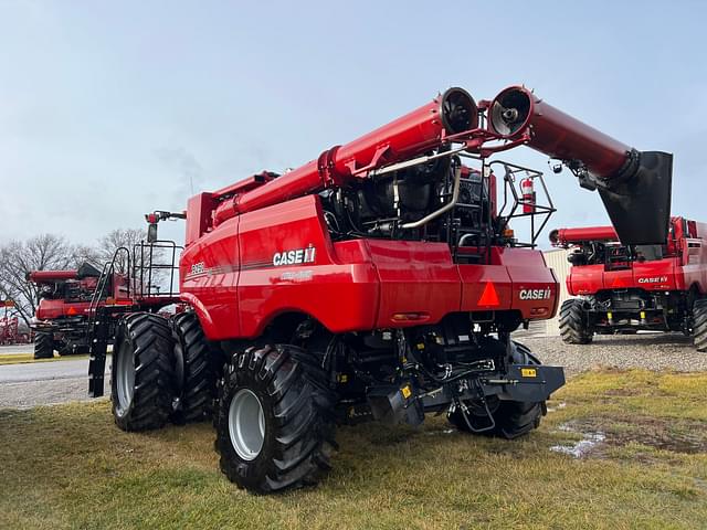
[[[123,431],[160,428],[172,412],[172,337],[159,315],[136,312],[118,325],[110,390],[115,423]]]

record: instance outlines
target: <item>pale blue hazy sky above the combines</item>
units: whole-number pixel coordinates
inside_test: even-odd
[[[519,83],[673,151],[673,212],[707,222],[707,2],[299,3],[0,0],[0,243],[93,243],[449,86],[478,100]],[[567,171],[548,183],[550,227],[608,222]]]

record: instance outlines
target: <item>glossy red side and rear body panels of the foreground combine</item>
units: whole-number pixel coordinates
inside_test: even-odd
[[[309,246],[314,263],[273,265],[275,253]],[[489,265],[457,265],[444,243],[333,243],[318,197],[305,195],[231,219],[190,245],[180,262],[181,296],[211,340],[256,337],[288,311],[308,314],[334,332],[434,324],[457,311],[552,315],[558,285],[542,254],[492,251]],[[497,306],[478,304],[487,282]],[[523,289],[551,295],[521,300]]]

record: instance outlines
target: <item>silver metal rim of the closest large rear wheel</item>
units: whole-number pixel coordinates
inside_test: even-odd
[[[260,455],[265,441],[265,414],[261,400],[251,390],[239,390],[229,406],[231,445],[244,460]]]

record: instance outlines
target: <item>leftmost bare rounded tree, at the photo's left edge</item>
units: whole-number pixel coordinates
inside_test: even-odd
[[[39,296],[27,280],[32,271],[75,268],[81,263],[75,247],[59,235],[43,234],[28,241],[11,241],[0,246],[0,295],[14,301],[19,316],[29,325],[36,310]]]

